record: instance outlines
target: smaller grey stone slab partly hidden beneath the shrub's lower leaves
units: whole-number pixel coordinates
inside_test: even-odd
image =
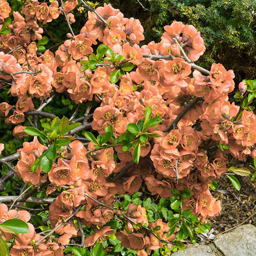
[[[185,252],[177,251],[175,253],[172,253],[172,256],[215,256],[215,255],[216,254],[212,252],[209,246],[199,245],[199,244],[186,247]],[[256,254],[253,256],[256,256]]]

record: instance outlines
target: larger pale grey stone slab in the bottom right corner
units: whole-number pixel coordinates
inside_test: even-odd
[[[225,256],[256,256],[256,227],[251,224],[237,227],[220,234],[214,243]]]

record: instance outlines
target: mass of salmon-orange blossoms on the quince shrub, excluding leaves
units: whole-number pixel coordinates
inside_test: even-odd
[[[48,5],[31,0],[20,13],[13,12],[14,20],[9,25],[11,33],[0,34],[3,42],[0,86],[11,81],[11,95],[18,98],[15,106],[0,103],[0,114],[6,117],[7,124],[17,124],[13,136],[18,139],[27,136],[24,133],[26,126],[22,123],[25,114],[34,110],[33,98],[47,99],[52,91],[56,91],[67,93],[75,103],[93,99],[100,102],[91,123],[92,129],[100,135],[112,125],[114,136],[121,136],[129,123],[144,119],[146,106],[150,106],[152,117],[160,117],[162,122],[148,131],[161,137],[154,138],[153,143],[141,143],[139,164],[114,182],[111,181],[112,177],[133,160],[133,148],[126,152],[123,152],[122,146],[116,146],[115,151],[112,147],[91,151],[95,149],[93,142],[86,148],[82,142],[75,140],[69,144],[69,151],[61,151],[61,157],[54,159],[50,172],[46,174],[40,167],[32,172],[31,165],[48,147],[41,145],[36,137],[32,142],[24,142],[24,147],[18,150],[20,159],[15,167],[17,175],[24,182],[38,185],[41,181],[49,180],[48,195],[57,188],[67,189],[69,186],[50,205],[51,227],[68,218],[73,207],[83,206],[75,218],[82,225],[99,227],[85,239],[86,246],[103,242],[106,236],[115,232],[110,226],[103,225],[112,220],[115,214],[121,215],[111,209],[116,203],[114,195],[133,195],[143,184],[152,195],[161,198],[172,197],[171,188],[179,191],[189,188],[193,196],[186,199],[183,209],[191,209],[203,220],[218,216],[220,201],[211,196],[209,184],[225,174],[228,154],[240,161],[256,156],[256,116],[252,111],[243,111],[242,117],[237,120],[239,107],[228,101],[228,93],[234,90],[233,71],[226,71],[221,64],[212,65],[207,76],[199,70],[193,71],[181,50],[184,49],[190,60],[196,61],[204,53],[205,46],[200,32],[181,22],[165,26],[160,42],[152,41],[140,47],[144,36],[139,20],[125,18],[118,9],[106,4],[96,11],[109,26],[105,26],[94,12],[89,12],[88,21],[78,35],[68,34],[69,39],[55,53],[46,50],[38,57],[33,40],[41,39],[44,32],[38,21],[42,25],[49,23],[63,11],[72,24],[75,19],[70,11],[77,4],[77,1],[68,0],[64,3],[64,9],[60,10],[57,1]],[[0,0],[0,29],[9,13],[9,4]],[[118,85],[110,81],[110,75],[116,68],[109,61],[95,71],[81,71],[80,62],[89,60],[92,47],[98,42],[103,42],[114,53],[124,56],[125,61],[136,66],[132,72],[120,76]],[[8,54],[12,49],[14,51]],[[166,55],[168,58],[156,55]],[[175,129],[166,132],[186,104],[195,97],[200,98],[197,105],[188,110]],[[217,147],[218,143],[229,145],[228,150],[222,152]],[[0,144],[0,151],[2,147]],[[115,152],[118,160],[114,158]],[[148,157],[152,162],[148,162]],[[110,208],[99,205],[86,195]],[[3,207],[3,211],[0,211],[2,220],[17,214],[17,211],[7,212],[6,206],[0,207]],[[26,211],[18,212],[19,218],[29,221],[30,216]],[[146,210],[141,205],[130,204],[123,214],[150,229],[160,226],[158,233],[162,240],[173,241],[176,238],[178,227],[172,236],[167,237],[168,223],[162,219],[149,223]],[[39,241],[42,237],[35,233],[32,224],[29,223],[29,227],[28,234],[15,239],[12,256],[62,255],[62,245],[80,235],[79,228],[71,219],[56,230],[61,235],[57,241],[45,240],[35,248],[32,241]],[[127,229],[119,231],[116,236],[124,247],[139,250],[139,255],[143,256],[163,247],[163,243],[153,234],[141,233],[130,221],[127,221]],[[168,244],[168,248],[171,246]]]

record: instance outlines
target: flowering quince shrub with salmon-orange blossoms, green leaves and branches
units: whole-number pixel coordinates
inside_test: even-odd
[[[89,12],[75,35],[78,4]],[[169,255],[195,243],[221,210],[215,179],[227,175],[239,190],[234,175],[250,175],[243,163],[256,169],[256,81],[241,82],[230,103],[233,71],[197,66],[203,39],[181,22],[141,45],[139,20],[111,5],[31,0],[10,12],[0,0],[0,86],[16,100],[0,114],[27,138],[0,158],[10,169],[0,184],[25,183],[0,197],[0,255]],[[39,53],[42,25],[60,15],[67,40]],[[58,94],[77,104],[70,118],[43,111]]]

